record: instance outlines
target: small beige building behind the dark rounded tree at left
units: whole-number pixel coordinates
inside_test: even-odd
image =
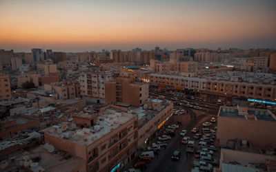
[[[21,74],[20,76],[17,76],[17,86],[21,87],[23,83],[26,83],[26,81],[29,81],[34,83],[34,87],[38,87],[40,76],[41,74],[37,74],[34,72]]]

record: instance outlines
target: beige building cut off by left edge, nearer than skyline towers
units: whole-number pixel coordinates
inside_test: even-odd
[[[3,75],[2,72],[0,72],[0,100],[11,97],[10,76]]]

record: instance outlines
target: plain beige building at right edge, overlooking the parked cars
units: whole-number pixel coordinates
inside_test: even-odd
[[[276,145],[276,116],[267,109],[253,109],[245,105],[221,106],[217,116],[217,139],[221,146],[228,140],[247,140],[251,147],[269,149]]]

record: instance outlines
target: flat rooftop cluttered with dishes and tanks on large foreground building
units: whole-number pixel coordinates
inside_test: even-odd
[[[82,146],[88,146],[134,117],[135,114],[126,113],[124,109],[108,107],[99,111],[97,122],[90,128],[77,129],[75,123],[62,122],[45,129],[45,133]]]

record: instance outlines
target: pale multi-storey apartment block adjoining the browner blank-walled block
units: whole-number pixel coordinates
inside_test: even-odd
[[[104,99],[105,82],[113,79],[112,71],[103,71],[99,67],[93,67],[89,72],[82,72],[79,75],[81,96]]]

